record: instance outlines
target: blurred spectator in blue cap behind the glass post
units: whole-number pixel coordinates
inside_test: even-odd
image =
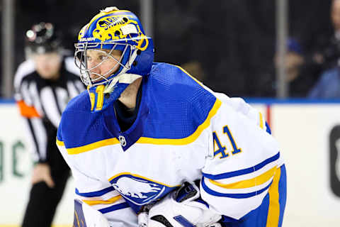
[[[263,74],[263,78],[267,78],[263,83],[262,96],[276,96],[278,89],[276,69],[279,67],[279,58],[277,53],[274,57],[274,66],[268,73]],[[288,96],[305,97],[314,84],[311,67],[305,62],[305,57],[300,43],[295,38],[287,40],[287,55],[285,60],[286,82],[288,82]]]

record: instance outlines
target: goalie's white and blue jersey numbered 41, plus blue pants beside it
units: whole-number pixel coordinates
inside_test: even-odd
[[[137,118],[121,131],[114,106],[91,113],[87,92],[62,114],[57,145],[76,194],[115,226],[137,226],[140,208],[200,179],[198,202],[242,226],[280,226],[285,171],[259,112],[217,94],[181,67],[154,63]]]

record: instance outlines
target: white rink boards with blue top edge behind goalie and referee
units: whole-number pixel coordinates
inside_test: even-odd
[[[268,118],[286,162],[288,202],[283,226],[339,226],[340,102],[249,101]],[[13,101],[0,101],[0,126],[0,226],[19,226],[32,163],[31,146]],[[72,226],[73,194],[70,180],[55,226]]]

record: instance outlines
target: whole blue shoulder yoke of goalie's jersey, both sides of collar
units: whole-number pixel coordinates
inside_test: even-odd
[[[146,111],[147,116],[137,117],[135,127],[132,126],[135,130],[121,134],[109,131],[108,128],[111,127],[108,127],[108,124],[114,125],[113,121],[106,122],[101,112],[91,113],[89,94],[85,91],[67,105],[62,114],[57,139],[62,141],[68,150],[103,140],[108,141],[106,144],[119,143],[116,139],[118,135],[124,135],[126,138],[136,137],[131,139],[131,143],[139,143],[140,137],[146,138],[147,143],[148,138],[174,139],[178,142],[178,139],[196,135],[190,137],[191,140],[186,140],[190,143],[210,124],[212,113],[219,107],[212,93],[175,65],[154,63],[149,76],[144,77],[142,86],[140,113]],[[138,132],[137,129],[141,125],[142,128]],[[126,146],[126,149],[130,145]]]

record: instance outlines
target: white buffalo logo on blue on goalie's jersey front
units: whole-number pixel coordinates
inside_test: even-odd
[[[175,188],[132,175],[120,175],[110,182],[125,199],[139,206],[160,199]]]

